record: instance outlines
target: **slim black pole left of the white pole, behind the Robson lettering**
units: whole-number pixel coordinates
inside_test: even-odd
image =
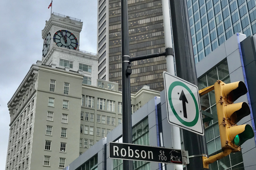
[[[128,12],[127,0],[121,0],[122,32],[122,102],[123,102],[123,143],[132,143],[132,113],[130,75],[132,70],[129,61]],[[132,161],[123,160],[123,169],[132,170]]]

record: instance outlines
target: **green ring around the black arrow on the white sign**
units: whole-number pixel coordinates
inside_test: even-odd
[[[192,96],[193,100],[194,100],[194,103],[195,103],[195,106],[196,106],[196,117],[195,119],[192,121],[192,122],[186,122],[184,121],[183,119],[180,118],[180,116],[177,114],[177,112],[175,111],[174,107],[173,107],[173,104],[172,104],[172,90],[175,86],[182,86],[184,87],[186,90],[188,90],[188,92],[190,93],[190,95]],[[184,124],[185,126],[188,126],[188,127],[192,127],[194,125],[196,125],[197,123],[197,120],[198,120],[198,117],[199,117],[199,109],[198,109],[198,105],[197,105],[197,102],[196,102],[196,98],[193,94],[193,92],[188,88],[187,85],[185,85],[184,83],[180,82],[180,81],[175,81],[173,82],[170,87],[169,87],[169,91],[168,91],[168,98],[169,98],[169,103],[170,103],[170,106],[171,106],[171,109],[172,109],[172,112],[173,114],[175,115],[175,117],[182,123]]]

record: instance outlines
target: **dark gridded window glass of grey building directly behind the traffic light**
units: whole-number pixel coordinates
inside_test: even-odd
[[[230,83],[228,62],[227,60],[214,67],[210,72],[198,79],[198,89],[201,90],[205,87],[213,85],[217,80],[225,83]],[[220,144],[220,131],[218,124],[218,116],[216,109],[216,101],[214,90],[200,97],[202,110],[211,113],[213,120],[204,123],[204,135],[209,156],[222,152]],[[182,141],[182,140],[181,140]],[[183,142],[182,142],[183,145]],[[241,152],[231,153],[229,156],[224,157],[209,165],[210,169],[214,170],[244,170],[243,157]]]

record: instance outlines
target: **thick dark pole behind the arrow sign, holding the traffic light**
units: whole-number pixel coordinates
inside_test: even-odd
[[[170,0],[173,43],[177,76],[197,85],[195,59],[188,22],[186,0]],[[164,30],[165,31],[165,30]],[[204,137],[187,130],[182,130],[184,149],[189,156],[207,154]],[[189,158],[187,170],[202,170],[202,157]]]

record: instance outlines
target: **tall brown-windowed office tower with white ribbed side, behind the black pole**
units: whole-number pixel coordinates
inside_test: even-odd
[[[100,0],[97,10],[98,78],[118,83],[121,91],[121,0]],[[128,21],[131,57],[165,51],[161,0],[128,0]],[[131,66],[131,92],[145,84],[153,90],[164,89],[165,56],[135,61]]]

